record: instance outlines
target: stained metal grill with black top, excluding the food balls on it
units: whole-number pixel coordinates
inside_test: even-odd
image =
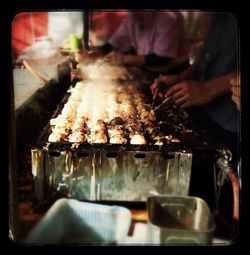
[[[145,75],[130,73],[142,83]],[[128,81],[120,81],[126,86]],[[145,87],[145,86],[144,86]],[[146,95],[146,89],[143,91]],[[52,118],[61,113],[68,101],[67,92]],[[146,97],[146,101],[151,98]],[[207,136],[189,118],[183,118],[179,109],[172,109],[175,120],[167,120],[170,109],[166,104],[157,113],[160,130],[168,130],[180,142],[163,142],[154,145],[90,144],[68,141],[48,143],[51,125],[48,123],[31,150],[35,200],[38,204],[52,202],[58,197],[87,201],[145,202],[150,193],[189,194],[193,156],[206,151],[213,157],[220,144]],[[188,127],[192,133],[182,132],[173,125]]]

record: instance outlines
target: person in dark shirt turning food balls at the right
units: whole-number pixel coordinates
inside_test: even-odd
[[[239,113],[231,100],[230,79],[238,67],[236,22],[226,13],[205,15],[209,29],[196,63],[179,75],[158,77],[150,88],[153,94],[170,97],[195,119],[203,120],[206,129],[231,150],[235,163]]]

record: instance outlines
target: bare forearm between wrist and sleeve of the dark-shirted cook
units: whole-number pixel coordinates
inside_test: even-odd
[[[221,95],[231,93],[230,79],[234,77],[235,73],[236,71],[205,82],[205,86],[208,88],[211,100]]]

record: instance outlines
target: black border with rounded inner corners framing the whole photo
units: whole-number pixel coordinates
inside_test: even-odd
[[[224,3],[223,3],[224,2]],[[15,162],[9,160],[8,152],[13,153],[11,151],[11,146],[13,145],[13,141],[11,140],[12,134],[12,114],[11,114],[11,83],[12,83],[12,65],[11,65],[11,21],[15,14],[19,11],[25,10],[39,10],[39,11],[47,11],[47,10],[54,10],[54,9],[71,9],[71,10],[78,10],[78,9],[93,9],[93,8],[128,8],[128,9],[203,9],[203,10],[211,10],[211,11],[222,11],[222,12],[230,12],[234,14],[240,26],[240,46],[241,46],[241,75],[242,75],[242,192],[241,192],[241,214],[240,214],[240,229],[239,229],[239,239],[236,241],[234,245],[230,245],[228,247],[131,247],[133,251],[137,252],[138,248],[143,249],[143,251],[147,251],[150,254],[153,253],[177,253],[177,254],[243,254],[247,251],[248,246],[248,218],[249,218],[249,211],[248,204],[249,199],[248,197],[248,190],[249,190],[249,177],[248,172],[250,171],[248,159],[249,158],[249,135],[247,131],[249,130],[249,117],[248,115],[248,103],[247,103],[247,96],[248,88],[250,86],[249,81],[249,74],[250,74],[250,67],[247,65],[247,61],[249,60],[249,46],[250,42],[248,40],[249,34],[249,8],[241,4],[239,1],[229,2],[229,1],[65,1],[65,0],[33,0],[33,1],[7,1],[3,4],[1,8],[1,15],[0,15],[0,54],[1,54],[1,100],[0,100],[0,109],[1,109],[1,211],[0,211],[0,219],[1,219],[1,244],[4,244],[8,248],[17,249],[17,248],[26,248],[25,252],[28,250],[25,246],[20,246],[18,244],[13,243],[8,238],[8,221],[9,221],[9,210],[8,210],[8,203],[9,203],[9,196],[11,195],[9,192],[10,182],[8,179],[8,171],[10,167],[13,166]],[[243,2],[243,1],[242,1]],[[246,2],[246,1],[244,1]],[[8,135],[7,135],[8,134]],[[8,170],[7,170],[8,169]],[[246,246],[246,247],[244,247]],[[244,247],[244,248],[243,248]],[[61,247],[62,248],[62,247]],[[74,247],[75,248],[75,247]],[[81,247],[83,248],[83,247]],[[91,247],[88,247],[90,249]],[[93,248],[102,248],[102,247],[93,247]],[[112,248],[112,249],[111,249]],[[103,247],[102,253],[112,253],[114,252],[117,254],[119,249],[119,254],[128,254],[131,250],[130,247]],[[245,252],[243,252],[243,250]],[[81,249],[82,252],[84,251]],[[99,252],[100,252],[99,250]],[[104,251],[105,250],[105,251]],[[12,251],[8,251],[12,252]],[[71,251],[72,252],[72,251]],[[91,251],[94,252],[94,251]]]

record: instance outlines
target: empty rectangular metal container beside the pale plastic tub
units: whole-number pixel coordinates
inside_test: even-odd
[[[147,209],[149,242],[212,243],[215,223],[204,200],[185,196],[150,196]]]

